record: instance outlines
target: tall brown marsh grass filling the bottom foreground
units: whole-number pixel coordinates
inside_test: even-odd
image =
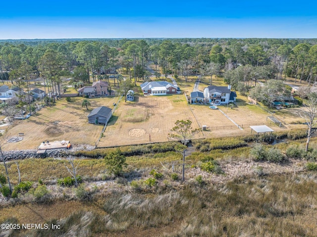
[[[162,193],[109,192],[96,203],[98,212],[74,211],[61,220],[61,230],[32,230],[30,237],[126,236],[131,230],[142,230],[154,236],[264,236],[314,237],[317,221],[316,175],[269,176],[257,179],[240,177],[223,185],[186,184],[180,190]],[[17,222],[6,219],[5,222]],[[169,227],[161,232],[162,227]],[[103,233],[103,234],[102,234]],[[15,236],[25,236],[25,232]],[[134,235],[134,236],[141,236]]]

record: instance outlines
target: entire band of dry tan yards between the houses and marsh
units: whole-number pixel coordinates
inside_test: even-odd
[[[176,120],[191,120],[192,127],[209,127],[195,136],[211,138],[223,136],[242,136],[251,133],[251,125],[268,125],[274,131],[293,128],[306,128],[305,125],[291,125],[303,119],[296,115],[298,108],[276,110],[276,116],[286,124],[281,128],[266,121],[269,116],[266,111],[256,105],[248,104],[244,99],[237,100],[237,107],[219,106],[220,110],[212,110],[207,105],[188,105],[185,95],[166,96],[136,96],[135,101],[122,99],[118,104],[99,147],[140,144],[148,142],[166,142],[168,133],[175,126]],[[27,120],[17,120],[8,129],[3,150],[36,149],[43,141],[69,140],[72,144],[91,144],[97,142],[103,125],[88,124],[87,115],[98,106],[113,108],[118,97],[90,99],[91,106],[86,110],[81,106],[82,98],[72,98],[67,103],[65,99],[57,101],[53,107],[38,111]],[[275,112],[275,111],[274,111]],[[239,129],[232,121],[242,126]],[[19,137],[24,133],[22,141],[6,142],[10,138]]]

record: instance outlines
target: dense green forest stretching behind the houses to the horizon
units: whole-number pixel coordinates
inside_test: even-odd
[[[108,80],[118,70],[137,80],[149,80],[149,62],[156,75],[223,76],[233,89],[246,93],[257,80],[317,80],[317,39],[60,39],[0,41],[0,77],[26,88],[29,79],[43,77],[52,92],[62,78],[73,86],[90,78]],[[122,77],[111,77],[113,86]],[[112,80],[111,80],[112,83]],[[60,93],[59,93],[60,94]]]

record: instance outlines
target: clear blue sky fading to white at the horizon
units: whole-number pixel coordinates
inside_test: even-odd
[[[0,39],[317,38],[317,1],[48,1],[1,2]]]

